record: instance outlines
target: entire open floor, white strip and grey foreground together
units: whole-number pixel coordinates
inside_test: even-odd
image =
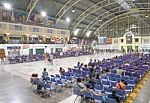
[[[102,60],[103,58],[111,58],[116,55],[120,54],[105,53],[103,55],[95,54],[91,56],[55,59],[53,66],[49,63],[45,63],[44,61],[1,65],[0,103],[50,103],[49,100],[41,99],[39,96],[29,91],[30,85],[27,80],[29,80],[32,73],[41,74],[43,68],[46,67],[50,74],[56,74],[61,66],[67,69],[67,67],[73,67],[76,65],[78,61],[88,63],[89,59]],[[74,98],[75,96],[72,95],[67,99],[62,100],[60,103],[73,103]]]

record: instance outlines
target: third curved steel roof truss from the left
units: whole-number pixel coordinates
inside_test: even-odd
[[[82,20],[84,20],[87,16],[89,16],[91,13],[95,12],[96,10],[102,9],[103,7],[106,7],[108,5],[111,4],[115,4],[115,1],[111,1],[111,0],[103,0],[98,2],[97,4],[91,6],[90,8],[88,8],[87,10],[85,10],[84,12],[82,12],[77,18],[76,20],[74,20],[74,22],[72,23],[72,30],[71,30],[71,34],[73,34],[74,30],[76,29],[76,27],[80,24],[80,22]]]

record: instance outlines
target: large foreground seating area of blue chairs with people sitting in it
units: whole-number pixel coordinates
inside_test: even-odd
[[[36,92],[40,89],[42,95],[44,93],[50,98],[53,98],[53,93],[66,90],[63,88],[72,88],[81,101],[122,103],[149,71],[149,58],[149,55],[135,53],[90,61],[88,65],[78,63],[63,74],[48,75],[47,72],[44,78],[32,75],[31,83],[37,85]],[[79,84],[83,85],[80,87]]]

